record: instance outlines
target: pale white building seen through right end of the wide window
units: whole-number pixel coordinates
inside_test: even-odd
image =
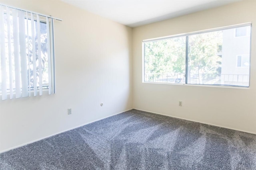
[[[240,28],[247,30],[249,34],[251,32],[250,26]],[[238,39],[234,37],[234,29],[223,30],[220,80],[223,85],[248,87],[250,79],[250,36]],[[241,56],[240,61],[236,61],[236,56]]]

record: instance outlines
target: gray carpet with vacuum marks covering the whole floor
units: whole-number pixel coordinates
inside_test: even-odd
[[[256,135],[132,109],[0,154],[1,170],[256,170]]]

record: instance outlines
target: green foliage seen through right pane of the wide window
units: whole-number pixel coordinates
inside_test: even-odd
[[[222,44],[222,31],[214,31],[188,38],[189,74],[202,74],[214,78],[221,72],[221,60],[217,52]]]

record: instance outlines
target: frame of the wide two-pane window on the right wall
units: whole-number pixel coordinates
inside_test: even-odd
[[[246,27],[250,26],[250,35],[248,35],[246,31],[246,36],[250,36],[250,52],[249,52],[249,61],[250,64],[248,67],[239,67],[239,68],[249,68],[249,82],[248,86],[238,86],[238,85],[225,85],[225,84],[188,84],[188,36],[190,35],[196,35],[196,34],[201,34],[201,33],[209,33],[209,32],[214,32],[214,31],[222,31],[225,29],[234,29],[234,28],[239,28],[239,27]],[[236,31],[236,30],[235,30]],[[164,39],[172,39],[176,37],[184,37],[186,36],[186,70],[185,70],[185,83],[168,83],[168,82],[145,82],[145,43],[147,42],[154,42],[154,41],[160,41]],[[241,36],[240,36],[241,37]],[[245,37],[245,36],[243,36]],[[250,87],[250,68],[251,68],[251,45],[252,44],[252,22],[248,23],[241,23],[241,24],[236,24],[236,25],[230,25],[230,26],[225,26],[225,27],[217,27],[213,29],[205,29],[201,31],[194,31],[194,32],[189,32],[189,33],[181,33],[181,34],[176,34],[176,35],[170,35],[170,36],[164,36],[164,37],[157,37],[157,38],[152,38],[152,39],[144,39],[142,40],[142,83],[154,83],[154,84],[174,84],[174,85],[189,85],[189,86],[212,86],[212,87],[233,87],[233,88],[249,88]],[[236,64],[237,64],[237,59],[236,59]],[[237,66],[237,65],[236,65]]]

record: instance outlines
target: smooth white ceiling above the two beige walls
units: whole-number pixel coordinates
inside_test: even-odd
[[[62,0],[104,18],[137,27],[239,0]]]

